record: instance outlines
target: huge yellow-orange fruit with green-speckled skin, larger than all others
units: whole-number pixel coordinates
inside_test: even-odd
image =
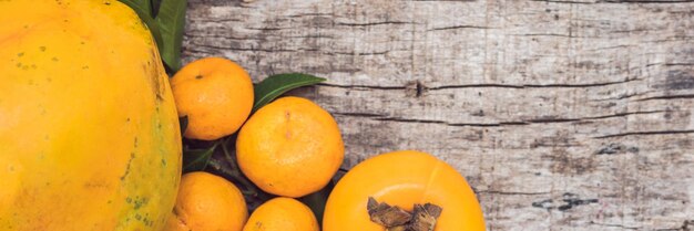
[[[152,36],[115,0],[0,0],[0,230],[159,230],[181,134]]]

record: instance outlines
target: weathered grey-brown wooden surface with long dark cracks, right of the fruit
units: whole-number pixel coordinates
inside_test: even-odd
[[[331,112],[345,168],[419,149],[488,230],[694,230],[694,3],[190,0],[186,61],[221,55]]]

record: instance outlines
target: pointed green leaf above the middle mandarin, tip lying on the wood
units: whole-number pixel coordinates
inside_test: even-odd
[[[325,78],[316,77],[309,74],[287,73],[272,75],[255,85],[255,103],[253,103],[253,112],[265,106],[277,96],[302,86],[314,85],[324,82]]]

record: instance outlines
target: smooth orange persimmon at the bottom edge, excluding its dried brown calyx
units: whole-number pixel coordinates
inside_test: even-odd
[[[412,211],[432,203],[442,211],[436,231],[483,231],[484,219],[466,179],[436,157],[415,150],[382,154],[349,170],[330,193],[324,231],[382,231],[367,212],[369,197]]]

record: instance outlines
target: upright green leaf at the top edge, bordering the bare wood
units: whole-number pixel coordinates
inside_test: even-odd
[[[181,66],[181,45],[187,0],[161,0],[156,22],[164,41],[160,46],[162,60],[173,72]]]

